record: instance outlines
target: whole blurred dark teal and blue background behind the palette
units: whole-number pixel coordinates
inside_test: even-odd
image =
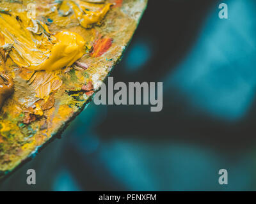
[[[91,103],[0,189],[255,191],[255,51],[254,0],[149,0],[112,76],[163,82],[162,112]],[[218,184],[222,168],[228,185]]]

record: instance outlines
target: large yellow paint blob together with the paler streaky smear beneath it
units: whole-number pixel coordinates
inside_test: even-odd
[[[10,47],[8,55],[15,64],[32,71],[26,80],[38,98],[47,100],[61,86],[58,73],[85,54],[85,43],[77,33],[50,33],[46,24],[28,18],[26,13],[1,13],[0,45]]]

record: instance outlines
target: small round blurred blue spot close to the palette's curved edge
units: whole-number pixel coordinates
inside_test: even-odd
[[[139,40],[134,42],[129,48],[124,59],[127,72],[138,71],[143,68],[152,55],[149,40]]]

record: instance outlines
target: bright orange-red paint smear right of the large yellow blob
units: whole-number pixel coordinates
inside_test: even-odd
[[[112,45],[112,41],[112,38],[100,38],[97,40],[93,45],[93,52],[90,54],[91,57],[100,57],[107,52]]]

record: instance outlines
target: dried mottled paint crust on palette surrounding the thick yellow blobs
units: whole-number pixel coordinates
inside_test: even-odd
[[[0,8],[6,6],[4,2],[1,1]],[[13,2],[17,8],[26,7],[19,1]],[[121,59],[147,6],[147,0],[106,1],[115,6],[108,11],[102,24],[84,29],[72,14],[60,17],[45,13],[51,0],[26,1],[27,4],[35,2],[40,3],[38,19],[48,24],[51,32],[65,29],[90,39],[86,44],[88,53],[73,68],[56,73],[62,84],[47,100],[36,97],[35,87],[28,81],[31,71],[7,59],[4,66],[13,78],[15,91],[0,112],[0,179],[61,135],[68,123],[90,103],[100,83]],[[45,77],[44,71],[37,74]],[[54,80],[55,73],[51,73],[52,76]]]

